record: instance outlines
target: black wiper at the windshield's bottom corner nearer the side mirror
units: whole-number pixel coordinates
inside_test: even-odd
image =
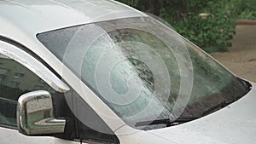
[[[192,120],[195,120],[197,118],[177,118],[177,119],[155,119],[153,121],[143,121],[143,122],[137,122],[135,126],[144,126],[144,125],[154,125],[154,124],[166,124],[166,126],[173,126],[177,124],[183,124]]]

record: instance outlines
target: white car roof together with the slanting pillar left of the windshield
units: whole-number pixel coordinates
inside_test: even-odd
[[[81,6],[80,4],[83,3]],[[84,4],[85,3],[85,4]],[[90,6],[86,6],[88,4]],[[108,4],[106,4],[108,3]],[[84,10],[81,10],[86,8]],[[110,9],[111,8],[111,9]],[[58,9],[58,10],[56,10]],[[52,13],[49,13],[51,10]],[[54,10],[54,11],[53,11]],[[59,12],[61,11],[61,12]],[[102,13],[104,12],[104,13]],[[103,14],[103,15],[102,15]],[[36,37],[39,32],[47,32],[67,26],[101,21],[121,19],[132,16],[146,16],[114,1],[1,1],[0,2],[0,33],[2,39],[9,38],[39,55],[67,84],[83,95],[90,107],[113,130],[119,129],[125,123],[91,91],[73,72],[63,66],[60,60],[49,52]],[[25,16],[26,15],[26,16]],[[93,102],[92,102],[93,101]]]

